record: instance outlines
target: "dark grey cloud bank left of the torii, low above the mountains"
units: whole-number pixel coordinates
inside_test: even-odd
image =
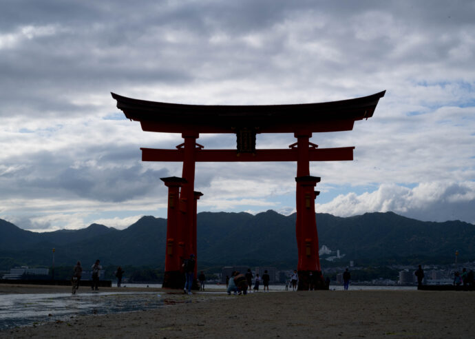
[[[65,156],[67,153],[63,151],[23,155],[21,160],[10,158],[3,164],[21,165],[17,170],[0,175],[0,184],[3,194],[11,198],[28,194],[30,198],[76,196],[92,201],[127,201],[161,188],[160,177],[169,176],[165,168],[144,169],[136,159],[137,153],[111,147],[117,165],[110,165],[101,157],[97,161],[90,159],[81,165],[72,165],[75,159]]]

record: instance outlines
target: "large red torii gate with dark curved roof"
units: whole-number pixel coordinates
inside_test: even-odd
[[[167,250],[163,287],[182,288],[184,258],[194,254],[196,206],[202,196],[194,191],[196,161],[296,161],[296,207],[299,289],[308,289],[309,276],[319,274],[319,245],[315,222],[315,185],[310,161],[351,161],[355,147],[317,148],[313,133],[352,130],[355,121],[368,119],[386,91],[357,99],[297,105],[182,105],[131,99],[112,94],[127,119],[140,121],[148,132],[181,133],[177,150],[141,148],[142,161],[181,161],[182,176],[161,178],[169,189]],[[234,133],[237,150],[204,150],[196,143],[202,133]],[[288,150],[256,150],[260,133],[293,133],[297,142]],[[196,268],[195,268],[196,276]]]

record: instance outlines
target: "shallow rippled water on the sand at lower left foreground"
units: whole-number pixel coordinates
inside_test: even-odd
[[[91,292],[83,294],[0,295],[0,329],[65,320],[81,314],[111,314],[156,309],[165,300],[156,293]]]

